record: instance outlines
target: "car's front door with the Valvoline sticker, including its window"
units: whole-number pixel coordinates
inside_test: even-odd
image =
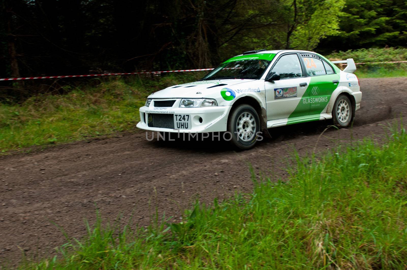
[[[283,54],[270,72],[279,73],[280,80],[265,82],[267,120],[308,115],[310,106],[302,98],[309,97],[309,78],[304,76],[298,54]]]

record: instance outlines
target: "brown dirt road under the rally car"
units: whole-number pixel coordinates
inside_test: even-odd
[[[385,133],[382,124],[407,114],[407,78],[361,79],[361,110],[352,129],[329,129],[311,122],[271,129],[252,150],[235,152],[223,142],[148,142],[145,133],[55,146],[44,151],[0,157],[0,264],[54,254],[68,235],[84,234],[83,220],[119,213],[149,223],[158,207],[179,220],[181,209],[199,197],[211,202],[252,187],[248,163],[258,174],[284,177],[286,158],[323,152],[337,144]],[[353,138],[353,139],[352,139]],[[20,249],[21,248],[21,249]]]

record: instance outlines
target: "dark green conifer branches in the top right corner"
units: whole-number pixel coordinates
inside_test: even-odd
[[[404,0],[346,0],[339,13],[340,33],[319,46],[325,52],[407,45],[407,4]]]

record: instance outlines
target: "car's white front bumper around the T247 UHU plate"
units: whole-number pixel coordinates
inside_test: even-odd
[[[153,102],[151,102],[153,103]],[[178,104],[177,104],[178,103]],[[202,132],[219,132],[226,131],[228,124],[228,115],[232,106],[214,106],[214,107],[199,107],[199,108],[179,108],[179,102],[175,102],[174,107],[156,108],[150,105],[140,108],[140,122],[137,127],[148,131],[162,132],[180,132],[180,133],[202,133]],[[191,118],[190,129],[162,128],[149,126],[149,114],[155,114],[155,117],[166,115],[163,117],[171,126],[171,115],[187,114]],[[202,119],[202,122],[199,119]]]

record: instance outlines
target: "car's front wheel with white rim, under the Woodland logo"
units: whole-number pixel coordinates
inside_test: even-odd
[[[250,105],[242,104],[232,109],[228,118],[230,142],[241,150],[252,148],[258,139],[260,119]]]

